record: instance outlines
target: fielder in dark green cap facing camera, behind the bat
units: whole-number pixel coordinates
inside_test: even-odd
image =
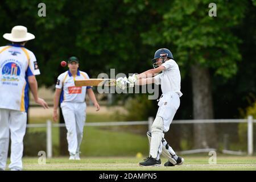
[[[80,145],[86,119],[86,92],[94,106],[97,108],[96,111],[100,110],[100,105],[96,100],[91,86],[75,86],[75,80],[89,79],[87,73],[79,71],[79,60],[77,57],[69,57],[68,68],[68,71],[62,73],[57,78],[54,96],[53,121],[56,122],[58,119],[57,108],[60,102],[65,126],[68,131],[69,160],[80,160]]]

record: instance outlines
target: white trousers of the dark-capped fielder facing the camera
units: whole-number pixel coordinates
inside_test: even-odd
[[[75,155],[80,152],[80,145],[82,142],[82,134],[85,125],[85,102],[73,103],[62,102],[61,110],[63,113],[68,140],[68,151],[70,155]]]

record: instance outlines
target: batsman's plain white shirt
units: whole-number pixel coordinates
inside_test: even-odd
[[[181,76],[179,66],[172,59],[163,63],[162,66],[166,69],[154,77],[155,84],[161,84],[163,94],[168,92],[176,92],[179,97],[181,97],[183,94],[180,92]]]

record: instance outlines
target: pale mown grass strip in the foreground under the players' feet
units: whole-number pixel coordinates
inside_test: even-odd
[[[96,170],[96,171],[211,171],[211,170],[253,170],[256,171],[255,156],[217,156],[217,164],[209,164],[209,156],[183,156],[185,162],[181,166],[164,167],[167,161],[162,158],[161,167],[140,167],[143,159],[133,157],[98,157],[81,160],[67,158],[47,159],[46,164],[38,164],[38,158],[23,158],[23,170]],[[9,161],[10,162],[10,161]]]

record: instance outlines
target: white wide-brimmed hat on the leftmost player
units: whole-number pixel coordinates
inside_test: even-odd
[[[4,34],[3,38],[11,42],[24,42],[35,39],[35,35],[28,33],[24,26],[15,26],[11,29],[11,34]]]

